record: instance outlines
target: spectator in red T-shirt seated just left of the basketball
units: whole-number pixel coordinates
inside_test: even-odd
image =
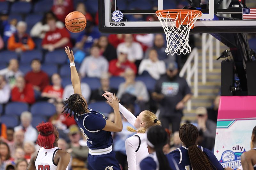
[[[45,34],[45,37],[42,41],[42,47],[45,50],[53,51],[57,48],[64,48],[66,46],[72,47],[70,42],[70,35],[66,28],[57,28],[56,21],[54,18],[49,19],[47,24],[50,27],[50,31]]]

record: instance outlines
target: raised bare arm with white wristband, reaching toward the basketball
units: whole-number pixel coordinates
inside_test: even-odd
[[[76,71],[75,57],[74,57],[73,51],[72,50],[70,51],[69,47],[68,48],[65,47],[65,52],[68,55],[68,59],[69,59],[70,63],[74,63],[73,66],[72,65],[70,66],[71,82],[72,82],[72,86],[73,86],[73,89],[74,89],[74,93],[82,94],[82,92],[81,92],[81,83],[80,83],[78,73]]]

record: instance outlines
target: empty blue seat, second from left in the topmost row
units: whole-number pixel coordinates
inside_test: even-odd
[[[14,2],[11,7],[11,13],[28,14],[31,8],[30,2]]]

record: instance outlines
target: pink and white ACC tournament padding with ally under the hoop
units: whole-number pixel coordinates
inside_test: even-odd
[[[214,154],[223,167],[235,170],[241,155],[249,151],[256,126],[256,96],[221,96]]]

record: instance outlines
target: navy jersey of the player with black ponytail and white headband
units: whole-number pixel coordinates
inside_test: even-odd
[[[169,166],[172,170],[180,170],[178,163],[169,155],[168,158]],[[156,153],[150,154],[147,158],[140,162],[140,170],[158,170],[159,163],[156,158]]]

